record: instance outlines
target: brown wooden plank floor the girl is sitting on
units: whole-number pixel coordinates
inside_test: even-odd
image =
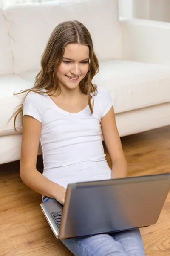
[[[170,172],[170,126],[121,140],[129,176]],[[41,195],[20,180],[19,164],[0,165],[0,256],[73,255],[48,226],[40,209]],[[37,169],[42,172],[41,156]],[[170,256],[170,194],[157,224],[142,228],[141,234],[147,256]]]

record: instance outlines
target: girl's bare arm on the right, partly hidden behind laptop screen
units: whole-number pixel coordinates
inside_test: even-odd
[[[112,162],[112,178],[127,177],[127,160],[116,126],[113,107],[101,119],[102,134]]]

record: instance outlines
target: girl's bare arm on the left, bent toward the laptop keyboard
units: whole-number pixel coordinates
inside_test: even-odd
[[[36,169],[40,133],[41,122],[32,116],[23,116],[20,177],[34,191],[64,204],[66,189],[48,180]]]

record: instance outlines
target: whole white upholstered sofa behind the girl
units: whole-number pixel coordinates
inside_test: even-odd
[[[17,134],[7,121],[24,94],[13,93],[34,85],[49,35],[73,19],[91,32],[100,65],[93,82],[111,92],[119,135],[170,125],[169,23],[119,20],[117,0],[11,6],[0,9],[0,164],[20,159],[22,127]]]

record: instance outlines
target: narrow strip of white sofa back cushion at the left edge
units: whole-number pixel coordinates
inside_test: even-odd
[[[14,72],[11,47],[3,9],[0,9],[0,76]]]

